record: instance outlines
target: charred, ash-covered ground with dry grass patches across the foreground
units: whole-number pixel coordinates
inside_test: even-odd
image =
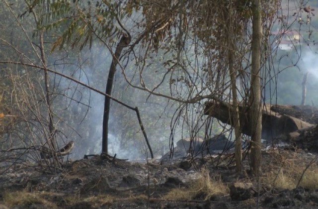
[[[6,171],[2,168],[0,203],[15,209],[318,208],[318,187],[300,184],[295,189],[300,176],[288,171],[298,168],[303,171],[308,167],[308,172],[317,173],[314,154],[304,150],[263,150],[259,184],[248,176],[248,156],[241,175],[236,174],[232,157],[209,156],[191,165],[186,160],[127,162],[93,156],[68,162],[56,175],[36,171],[43,167],[31,164],[9,167]],[[208,181],[203,178],[202,170],[207,171],[211,181],[225,186],[225,192],[218,193],[217,186],[207,191],[200,185],[200,180]],[[290,188],[289,181],[295,182]],[[239,192],[238,197],[229,189],[235,182],[253,186],[251,190]],[[287,185],[279,188],[279,184]],[[247,195],[243,194],[246,192]]]

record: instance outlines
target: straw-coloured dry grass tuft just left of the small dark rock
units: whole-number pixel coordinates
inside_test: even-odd
[[[192,200],[192,199],[204,199],[208,200],[212,196],[228,195],[229,188],[221,180],[211,178],[209,170],[201,170],[201,178],[191,184],[188,189],[172,189],[169,191],[163,199],[165,200]]]

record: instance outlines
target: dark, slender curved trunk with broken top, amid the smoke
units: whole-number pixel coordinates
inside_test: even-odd
[[[117,44],[115,54],[113,55],[113,60],[110,65],[107,84],[106,84],[106,91],[107,95],[111,95],[112,88],[113,88],[113,80],[116,72],[116,65],[118,64],[119,56],[124,47],[126,47],[130,43],[131,37],[129,34],[124,34],[119,43]],[[102,138],[102,152],[108,154],[108,120],[109,120],[109,109],[110,109],[110,98],[105,98],[104,104],[104,117],[103,117],[103,138]]]

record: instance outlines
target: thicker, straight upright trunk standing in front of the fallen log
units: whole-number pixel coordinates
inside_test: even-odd
[[[258,176],[261,169],[261,132],[262,132],[262,107],[261,107],[261,41],[262,20],[260,0],[252,1],[252,65],[251,65],[251,154],[250,163],[254,176]]]

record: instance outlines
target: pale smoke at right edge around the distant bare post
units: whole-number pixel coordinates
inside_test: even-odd
[[[306,104],[318,104],[318,95],[315,91],[318,88],[318,54],[307,45],[301,47],[297,50],[279,51],[280,55],[274,63],[275,70],[271,72],[272,80],[266,86],[266,103],[300,105],[303,78],[309,73]]]

